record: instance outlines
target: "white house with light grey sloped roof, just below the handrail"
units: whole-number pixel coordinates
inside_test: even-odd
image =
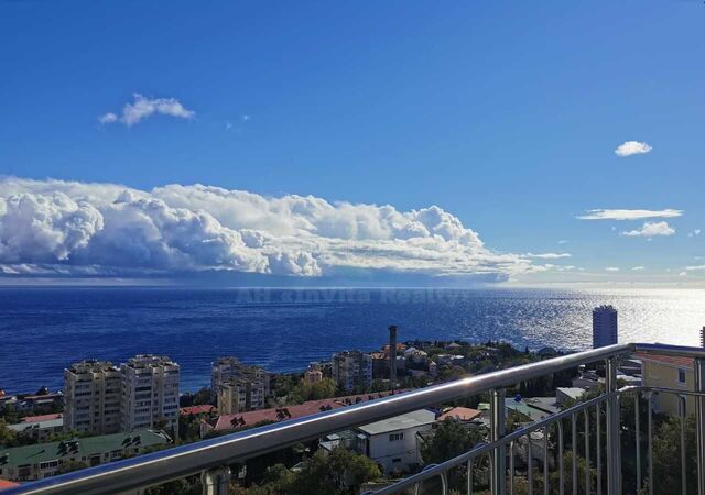
[[[431,430],[435,420],[435,413],[421,409],[357,427],[356,450],[386,474],[414,470],[421,463],[417,433]]]

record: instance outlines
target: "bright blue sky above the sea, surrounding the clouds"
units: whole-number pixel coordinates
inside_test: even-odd
[[[705,271],[686,267],[705,263],[705,233],[696,233],[705,229],[704,16],[702,2],[676,0],[0,1],[0,173],[148,193],[204,184],[399,212],[435,205],[492,255],[571,254],[525,257],[541,266],[529,271],[501,262],[496,273],[480,271],[485,282],[698,284]],[[150,105],[174,99],[194,113],[99,123],[108,112],[120,118],[133,94]],[[620,157],[615,150],[627,141],[650,151]],[[42,184],[2,191],[54,187]],[[682,215],[577,219],[592,209]],[[53,228],[61,231],[64,220]],[[622,234],[644,222],[666,234]],[[66,255],[54,248],[37,255],[43,248],[30,237],[4,239],[6,252],[17,250],[3,258],[0,235],[7,273],[21,264],[95,266],[106,257],[78,252],[94,240]],[[305,251],[279,241],[276,249],[282,244],[293,257]],[[322,266],[313,275],[324,279],[368,263],[311,254]],[[129,263],[121,267],[134,268],[131,275],[172,271]],[[254,272],[276,273],[271,257],[268,267],[253,263]],[[471,282],[469,265],[459,272]],[[369,267],[384,280],[417,272],[397,262]],[[421,272],[452,268],[446,260]]]

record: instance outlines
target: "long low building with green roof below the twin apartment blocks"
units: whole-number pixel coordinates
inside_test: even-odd
[[[104,435],[61,442],[0,449],[0,477],[12,481],[35,481],[54,476],[67,461],[86,466],[139,454],[150,447],[171,443],[164,432],[137,430],[130,433]]]

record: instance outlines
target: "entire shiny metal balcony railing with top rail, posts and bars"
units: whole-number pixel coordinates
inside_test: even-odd
[[[617,367],[621,358],[634,352],[670,356],[686,356],[694,360],[695,383],[693,389],[647,388],[627,386],[618,388]],[[506,431],[505,389],[521,382],[575,369],[582,364],[605,363],[605,391],[599,396],[576,404],[555,415],[512,432]],[[3,494],[124,494],[139,493],[142,488],[200,473],[204,494],[223,495],[228,493],[230,470],[228,465],[242,462],[295,443],[319,439],[336,431],[370,424],[393,416],[411,413],[425,407],[475,396],[481,393],[490,395],[490,435],[487,443],[481,443],[442,464],[426,466],[422,472],[410,475],[398,483],[388,485],[370,494],[430,493],[426,488],[434,483],[434,490],[449,492],[449,473],[463,470],[466,493],[473,493],[473,477],[480,463],[489,464],[487,471],[492,494],[517,493],[514,462],[519,451],[527,451],[525,475],[523,476],[529,494],[534,491],[534,469],[538,457],[543,469],[543,492],[549,493],[549,475],[557,473],[558,493],[654,493],[653,469],[653,429],[652,400],[654,394],[674,394],[682,404],[680,421],[681,492],[686,490],[686,438],[685,438],[685,397],[695,402],[695,431],[697,452],[697,493],[705,495],[705,349],[684,348],[662,344],[616,344],[565,356],[554,358],[523,366],[501,370],[479,376],[458,380],[441,385],[422,388],[335,409],[308,417],[282,421],[254,428],[248,431],[204,440],[196,443],[175,447],[123,461],[112,462],[74,473],[26,483]],[[647,402],[647,425],[641,425],[640,400]],[[620,402],[633,400],[634,404],[634,449],[636,476],[633,486],[622,486]],[[592,422],[594,420],[594,424]],[[578,452],[577,431],[583,422],[582,449]],[[568,432],[572,435],[564,435]],[[564,431],[565,430],[565,431]],[[532,440],[532,433],[543,433],[541,440]],[[557,448],[556,462],[551,466],[549,459],[549,438],[553,435]],[[643,436],[647,439],[646,452],[642,452]],[[564,444],[570,438],[570,446]],[[603,441],[604,439],[604,441]],[[692,440],[692,439],[687,439]],[[582,450],[581,449],[581,450]],[[578,480],[577,462],[566,468],[564,453],[571,451],[581,455],[586,463],[584,479]],[[604,455],[603,455],[604,454]],[[485,461],[487,459],[488,461]],[[594,460],[594,462],[593,462]],[[646,463],[643,462],[646,460]],[[646,464],[646,469],[642,465]],[[567,476],[567,477],[566,477]],[[565,486],[565,481],[571,486]],[[425,487],[424,487],[424,484]]]

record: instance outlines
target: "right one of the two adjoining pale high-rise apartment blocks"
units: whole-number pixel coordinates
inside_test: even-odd
[[[138,355],[120,373],[122,431],[161,428],[177,435],[178,364],[166,356]]]

